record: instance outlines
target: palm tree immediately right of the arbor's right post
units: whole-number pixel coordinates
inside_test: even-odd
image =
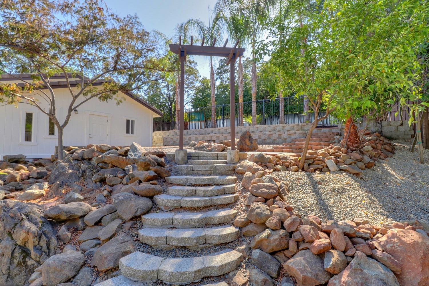
[[[245,47],[250,38],[248,34],[248,18],[244,10],[243,0],[218,0],[214,14],[221,27],[225,28],[230,38],[239,41],[239,48]],[[243,125],[243,65],[239,57],[239,125]]]

